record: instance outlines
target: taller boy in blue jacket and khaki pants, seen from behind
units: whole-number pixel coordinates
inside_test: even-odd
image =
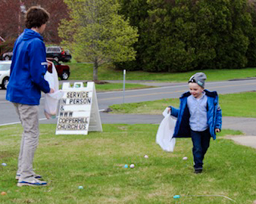
[[[6,91],[20,117],[23,134],[18,157],[17,186],[45,186],[40,175],[33,172],[33,157],[39,142],[39,102],[41,91],[53,93],[45,81],[47,71],[42,32],[49,14],[43,8],[32,7],[26,14],[27,29],[17,38],[11,62],[11,75]]]

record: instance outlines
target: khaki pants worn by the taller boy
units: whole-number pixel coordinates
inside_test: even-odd
[[[35,175],[33,158],[39,143],[39,107],[14,103],[23,126],[17,174],[20,180]]]

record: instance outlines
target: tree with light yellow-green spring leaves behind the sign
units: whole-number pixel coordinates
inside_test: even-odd
[[[65,0],[70,20],[62,20],[59,36],[78,60],[93,63],[93,80],[104,63],[134,60],[137,29],[118,14],[117,0]]]

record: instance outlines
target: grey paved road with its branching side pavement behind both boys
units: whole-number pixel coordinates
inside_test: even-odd
[[[131,82],[129,82],[131,83]],[[148,88],[141,90],[133,90],[125,92],[125,103],[134,103],[140,101],[158,100],[162,98],[180,97],[184,91],[188,90],[186,83],[152,83],[152,82],[136,82],[144,85],[155,85],[158,88]],[[217,91],[219,94],[236,93],[242,91],[256,91],[256,79],[226,81],[226,82],[208,82],[206,88]],[[97,94],[98,107],[100,110],[105,110],[111,104],[123,103],[123,91],[102,92]],[[39,106],[39,120],[40,123],[57,123],[57,119],[46,120],[43,114],[44,97],[42,97]],[[8,123],[17,123],[17,113],[11,103],[5,100],[5,90],[0,90],[0,125]],[[101,122],[105,124],[111,123],[148,123],[159,124],[163,116],[148,116],[148,115],[114,115],[110,113],[101,113]],[[256,148],[256,119],[254,118],[233,118],[223,117],[223,128],[230,128],[234,130],[243,131],[247,136],[233,136],[230,137],[238,144],[246,145],[248,147]]]

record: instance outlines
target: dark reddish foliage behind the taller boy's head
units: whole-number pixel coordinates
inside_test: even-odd
[[[0,1],[0,36],[5,40],[17,39],[25,28],[24,17],[26,10],[31,6],[39,5],[50,14],[47,29],[43,33],[45,42],[59,44],[58,24],[62,18],[67,18],[67,5],[63,0],[1,0]],[[13,46],[13,45],[12,45]]]

